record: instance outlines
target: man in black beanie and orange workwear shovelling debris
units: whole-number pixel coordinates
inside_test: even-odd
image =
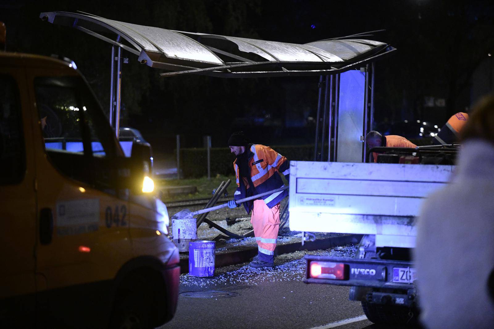
[[[286,157],[269,146],[248,144],[243,132],[233,133],[228,146],[237,156],[233,162],[238,186],[235,200],[285,185],[279,173],[288,180],[289,163]],[[280,201],[287,195],[288,190],[283,190],[244,202],[247,214],[252,211],[250,222],[258,246],[257,256],[249,263],[251,267],[274,267],[274,251],[280,226]],[[238,207],[235,200],[229,201],[228,207]]]

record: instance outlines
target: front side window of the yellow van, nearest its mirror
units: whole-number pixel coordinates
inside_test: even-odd
[[[34,83],[48,158],[74,179],[101,182],[90,171],[104,171],[104,160],[123,152],[85,81],[79,76],[37,77]]]

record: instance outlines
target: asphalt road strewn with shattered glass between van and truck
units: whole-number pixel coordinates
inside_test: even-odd
[[[355,249],[339,247],[311,254],[352,256]],[[362,316],[360,302],[348,300],[348,287],[304,284],[303,255],[278,256],[274,270],[253,269],[244,263],[217,268],[211,278],[183,274],[175,317],[161,328],[310,329],[346,319],[356,322],[327,328],[377,328]],[[196,292],[202,297],[191,296]]]

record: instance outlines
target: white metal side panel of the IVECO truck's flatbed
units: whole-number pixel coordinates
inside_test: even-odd
[[[453,166],[290,162],[290,229],[375,234],[376,245],[410,248],[413,217]]]

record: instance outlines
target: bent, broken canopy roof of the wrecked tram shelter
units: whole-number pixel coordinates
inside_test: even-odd
[[[326,75],[358,68],[394,50],[357,35],[295,44],[166,30],[90,14],[53,11],[40,18],[76,28],[138,56],[162,76],[205,74],[224,77]]]

